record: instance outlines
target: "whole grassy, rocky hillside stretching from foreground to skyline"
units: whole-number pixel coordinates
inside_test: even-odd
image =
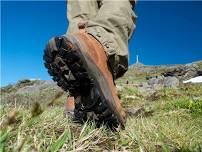
[[[202,61],[136,64],[116,81],[128,113],[126,129],[112,132],[65,116],[68,96],[53,81],[21,80],[1,88],[0,151],[202,150]]]

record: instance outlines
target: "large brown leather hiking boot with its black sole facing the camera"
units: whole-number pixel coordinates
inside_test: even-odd
[[[93,36],[83,29],[80,31],[49,41],[44,54],[45,67],[60,87],[80,94],[84,111],[94,112],[100,122],[111,127],[118,123],[124,128],[125,112],[117,96],[104,48]],[[68,79],[69,72],[75,80]]]

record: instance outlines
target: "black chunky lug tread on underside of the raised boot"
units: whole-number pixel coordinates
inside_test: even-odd
[[[57,82],[57,85],[63,90],[69,91],[71,94],[89,94],[94,87],[94,82],[75,49],[75,46],[65,37],[51,39],[44,50],[44,66],[48,69],[48,73],[52,76],[53,81]],[[65,77],[70,71],[75,80],[69,80]],[[110,128],[119,125],[117,118],[109,110],[104,99],[97,99],[93,107],[87,109],[87,111],[93,111],[97,115],[99,118],[97,124],[106,123]],[[82,114],[85,116],[82,116]],[[75,108],[75,116],[77,120],[86,120],[86,113],[81,106]]]

